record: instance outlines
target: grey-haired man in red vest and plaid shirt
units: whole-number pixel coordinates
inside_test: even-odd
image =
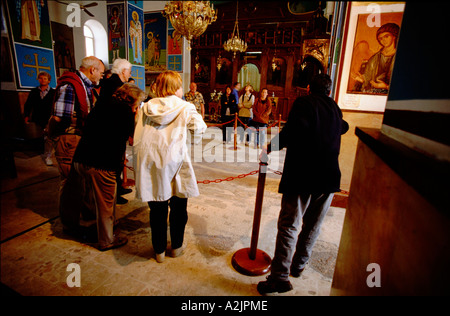
[[[77,72],[65,72],[58,80],[53,115],[48,132],[55,138],[55,157],[61,174],[59,213],[66,232],[79,233],[80,187],[71,179],[72,158],[81,139],[84,122],[94,106],[93,88],[103,77],[105,66],[93,56],[81,61]],[[78,194],[80,193],[80,194]],[[87,209],[89,202],[84,203]]]

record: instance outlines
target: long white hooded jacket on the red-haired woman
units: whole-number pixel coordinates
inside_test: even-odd
[[[206,128],[195,106],[175,95],[144,103],[133,141],[136,197],[148,202],[198,196],[186,141],[188,130],[198,141]]]

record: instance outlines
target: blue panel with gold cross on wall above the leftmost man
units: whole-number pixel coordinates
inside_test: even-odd
[[[55,65],[53,51],[40,47],[15,44],[17,73],[21,88],[35,88],[39,86],[37,75],[46,71],[52,76],[50,86],[56,88]]]

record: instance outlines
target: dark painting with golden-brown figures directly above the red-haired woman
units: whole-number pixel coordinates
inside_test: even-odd
[[[145,70],[167,70],[167,19],[161,12],[144,15]]]

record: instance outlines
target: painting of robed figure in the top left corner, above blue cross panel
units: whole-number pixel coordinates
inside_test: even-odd
[[[15,43],[52,48],[47,0],[8,0],[7,5]]]

